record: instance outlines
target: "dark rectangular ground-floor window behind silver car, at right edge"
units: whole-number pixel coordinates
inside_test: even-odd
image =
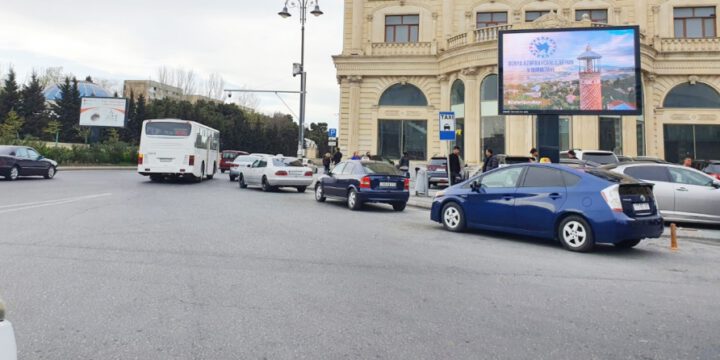
[[[720,125],[669,125],[665,132],[665,160],[680,163],[686,156],[695,160],[720,159]]]

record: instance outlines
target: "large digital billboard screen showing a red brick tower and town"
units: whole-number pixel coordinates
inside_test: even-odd
[[[640,115],[635,26],[502,31],[502,114]]]

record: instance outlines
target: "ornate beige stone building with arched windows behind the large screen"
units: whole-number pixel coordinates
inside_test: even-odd
[[[673,162],[685,155],[720,159],[718,5],[720,0],[345,0],[344,45],[334,57],[340,146],[345,153],[390,158],[403,151],[418,160],[444,154],[438,112],[453,110],[467,162],[482,161],[488,147],[527,154],[537,143],[535,117],[498,114],[498,31],[638,25],[644,114],[562,117],[562,149]],[[585,55],[591,71],[584,75],[584,92],[597,91],[597,54],[588,49]],[[578,101],[574,95],[567,100]]]

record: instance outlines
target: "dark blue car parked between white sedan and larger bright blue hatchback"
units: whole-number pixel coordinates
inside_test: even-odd
[[[315,185],[315,200],[347,201],[351,210],[365,203],[386,203],[395,211],[405,210],[410,197],[410,179],[391,164],[381,161],[350,160],[337,164]]]

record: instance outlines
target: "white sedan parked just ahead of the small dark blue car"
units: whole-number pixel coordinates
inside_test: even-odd
[[[260,186],[263,191],[294,187],[305,192],[313,182],[313,171],[303,166],[302,160],[283,156],[265,156],[241,168],[238,174],[240,188]]]

